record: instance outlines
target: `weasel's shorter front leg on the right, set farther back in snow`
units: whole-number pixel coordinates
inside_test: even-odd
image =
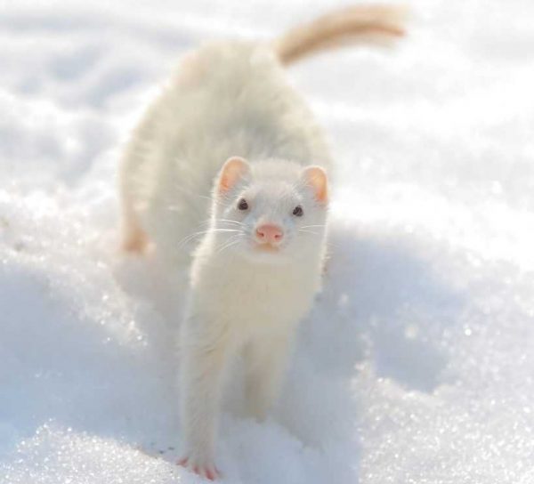
[[[279,397],[287,370],[291,335],[249,343],[245,349],[247,414],[262,421]]]

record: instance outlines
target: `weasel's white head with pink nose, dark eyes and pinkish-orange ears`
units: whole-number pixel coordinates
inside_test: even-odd
[[[213,200],[215,250],[258,262],[322,254],[328,179],[319,166],[231,157],[215,181]]]

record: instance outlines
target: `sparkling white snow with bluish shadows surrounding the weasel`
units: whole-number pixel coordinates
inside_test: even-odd
[[[336,155],[331,258],[271,418],[231,383],[225,482],[534,482],[534,5],[411,8],[399,48],[288,72]],[[326,9],[3,4],[2,484],[200,481],[174,465],[184,270],[117,252],[117,157],[182,52]]]

